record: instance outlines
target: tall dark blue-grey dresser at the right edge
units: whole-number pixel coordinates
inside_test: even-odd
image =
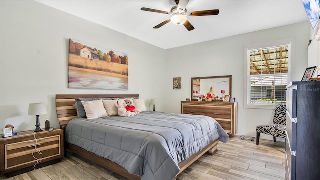
[[[286,95],[286,179],[320,179],[320,82],[291,82]]]

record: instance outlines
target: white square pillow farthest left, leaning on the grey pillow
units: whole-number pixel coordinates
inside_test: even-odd
[[[84,107],[87,119],[95,119],[108,116],[104,108],[102,99],[91,100],[87,102],[81,101],[81,103]]]

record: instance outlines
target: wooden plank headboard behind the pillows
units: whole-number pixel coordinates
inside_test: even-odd
[[[139,94],[56,94],[55,106],[60,127],[64,129],[65,125],[76,118],[75,98],[138,98]]]

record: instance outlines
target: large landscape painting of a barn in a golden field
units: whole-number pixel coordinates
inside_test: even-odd
[[[128,90],[128,54],[69,39],[69,88]]]

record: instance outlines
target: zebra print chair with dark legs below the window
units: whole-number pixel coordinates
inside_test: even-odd
[[[256,126],[256,145],[259,145],[260,133],[272,135],[274,142],[275,137],[285,138],[285,125],[286,104],[276,105],[273,117],[273,124]]]

